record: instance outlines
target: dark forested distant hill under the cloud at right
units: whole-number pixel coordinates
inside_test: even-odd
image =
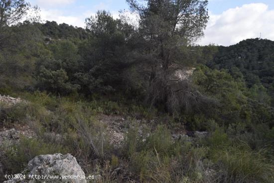
[[[274,41],[256,38],[219,46],[207,66],[228,69],[235,78],[243,76],[248,87],[262,83],[269,89],[274,83]]]

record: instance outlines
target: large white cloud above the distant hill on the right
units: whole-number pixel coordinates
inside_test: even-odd
[[[209,13],[205,36],[199,44],[231,45],[247,38],[274,40],[274,10],[264,3],[244,4],[221,14]]]

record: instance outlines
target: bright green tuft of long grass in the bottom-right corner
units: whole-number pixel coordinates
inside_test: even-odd
[[[274,166],[262,152],[248,147],[228,147],[211,155],[222,183],[273,183]]]

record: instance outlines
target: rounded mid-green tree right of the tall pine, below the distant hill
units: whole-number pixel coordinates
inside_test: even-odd
[[[214,116],[218,123],[237,123],[245,113],[247,90],[243,80],[234,79],[226,70],[210,69],[204,65],[197,66],[193,73],[193,82],[199,91],[207,96],[215,98],[219,105],[215,107]],[[221,124],[223,125],[223,124]]]

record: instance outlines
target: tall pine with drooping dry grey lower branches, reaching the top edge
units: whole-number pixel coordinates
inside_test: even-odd
[[[127,0],[138,12],[139,36],[143,49],[140,61],[146,61],[149,78],[148,100],[164,105],[169,112],[189,111],[202,106],[204,99],[187,80],[176,77],[185,69],[182,45],[203,35],[208,21],[207,0]],[[186,61],[186,60],[185,60]]]

